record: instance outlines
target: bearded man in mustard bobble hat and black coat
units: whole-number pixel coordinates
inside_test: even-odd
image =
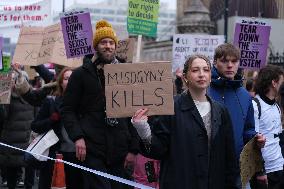
[[[91,169],[125,177],[138,153],[138,135],[129,118],[106,117],[104,65],[118,64],[118,39],[105,20],[96,24],[93,45],[96,54],[69,78],[62,105],[63,123],[76,145],[76,157]],[[120,189],[126,186],[84,172],[85,189]]]

